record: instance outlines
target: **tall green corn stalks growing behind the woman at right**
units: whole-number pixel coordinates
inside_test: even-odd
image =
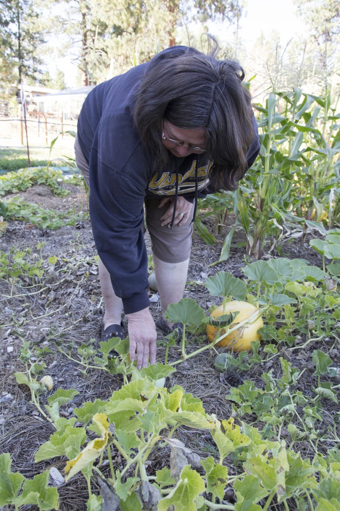
[[[234,194],[201,202],[203,216],[215,216],[216,230],[228,212],[236,215],[221,261],[229,257],[237,228],[246,234],[248,254],[258,259],[264,245],[279,248],[308,229],[322,229],[323,223],[333,227],[340,218],[340,115],[330,97],[296,88],[272,93],[264,106],[255,108],[261,149],[254,166]],[[199,220],[197,224],[203,238],[213,243]]]

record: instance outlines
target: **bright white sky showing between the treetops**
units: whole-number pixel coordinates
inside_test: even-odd
[[[209,31],[216,35],[221,42],[234,37],[225,26],[213,24]],[[263,33],[269,38],[273,31],[280,35],[284,46],[292,37],[306,33],[306,28],[301,19],[297,16],[297,7],[293,0],[246,0],[246,6],[240,18],[239,37],[242,45],[251,52],[256,39]],[[67,58],[60,58],[54,61],[54,66],[62,69],[65,73],[65,82],[68,87],[77,86],[77,67]],[[54,70],[50,70],[52,76]]]

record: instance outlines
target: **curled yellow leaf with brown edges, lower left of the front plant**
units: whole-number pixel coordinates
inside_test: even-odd
[[[65,474],[67,474],[66,481],[70,479],[70,477],[74,476],[80,470],[83,470],[90,463],[92,463],[96,458],[98,458],[103,451],[105,451],[108,439],[111,436],[109,431],[109,421],[106,413],[96,413],[93,416],[93,422],[98,426],[102,437],[95,438],[87,446],[83,451],[74,459],[68,461],[65,467]]]

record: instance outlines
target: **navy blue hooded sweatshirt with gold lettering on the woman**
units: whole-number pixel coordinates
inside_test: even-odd
[[[167,52],[183,53],[185,47]],[[153,62],[154,59],[151,61]],[[197,155],[176,158],[169,153],[164,169],[153,170],[153,158],[140,142],[133,122],[133,107],[140,79],[149,63],[94,87],[85,99],[78,120],[78,140],[89,162],[89,208],[94,242],[111,276],[116,296],[123,300],[126,314],[150,305],[148,255],[143,238],[145,196],[178,194],[193,201]],[[250,167],[259,152],[254,119],[254,142],[248,152]],[[177,160],[177,161],[176,161]],[[197,170],[200,196],[211,193],[208,172],[211,160],[200,154]]]

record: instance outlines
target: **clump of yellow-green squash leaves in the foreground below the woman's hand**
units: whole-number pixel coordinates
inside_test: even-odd
[[[324,511],[327,503],[327,509],[337,511],[338,449],[330,449],[326,457],[316,453],[311,461],[303,459],[282,439],[270,440],[245,422],[239,426],[231,417],[220,421],[207,414],[202,402],[180,386],[170,390],[155,386],[150,376],[144,376],[148,371],[150,374],[150,368],[144,369],[139,379],[113,392],[109,400],[84,403],[70,419],[61,417],[59,409],[77,391],[59,389],[48,397],[45,408],[56,431],[39,447],[35,461],[66,457],[66,480],[81,472],[88,482],[87,509],[101,509],[105,504],[113,509],[119,505],[123,511],[166,511],[172,505],[175,509],[200,511],[260,511],[268,509],[276,498],[287,510],[294,502],[297,509],[306,509],[308,503],[310,509]],[[154,368],[153,373],[154,377]],[[157,376],[161,374],[168,371],[162,372],[159,367]],[[32,388],[22,374],[17,374],[17,381]],[[39,384],[34,391],[39,391]],[[200,459],[174,438],[180,426],[208,431],[218,461],[213,456]],[[168,467],[149,475],[145,466],[155,451],[162,452],[162,457],[167,453]],[[114,470],[112,459],[116,455],[124,460],[123,470]],[[109,461],[108,477],[103,473],[104,459]],[[233,470],[229,471],[231,463]],[[24,478],[10,470],[9,455],[3,454],[0,505],[14,504],[16,509],[23,504],[58,508],[57,490],[47,486],[48,471],[32,481],[26,480],[20,493]],[[110,491],[103,496],[92,493],[92,475]],[[232,489],[235,504],[225,500],[227,489]]]

